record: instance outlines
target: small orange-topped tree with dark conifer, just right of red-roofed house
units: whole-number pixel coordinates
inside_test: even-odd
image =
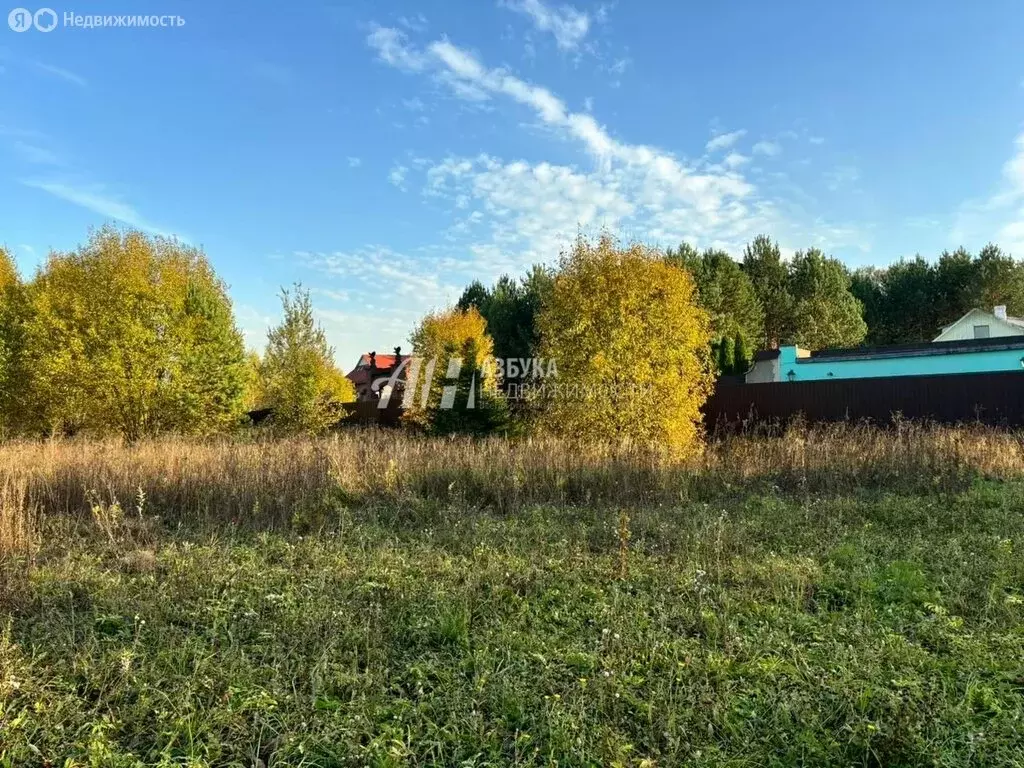
[[[413,331],[410,342],[417,380],[404,400],[407,423],[444,433],[486,432],[500,425],[504,415],[496,399],[497,381],[486,370],[495,343],[476,307],[431,312]],[[455,399],[442,407],[445,387],[455,387]]]

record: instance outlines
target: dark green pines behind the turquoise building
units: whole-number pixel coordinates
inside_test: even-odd
[[[667,257],[694,275],[725,373],[745,370],[751,349],[928,342],[974,308],[1024,313],[1024,261],[994,245],[852,271],[814,248],[785,260],[766,236],[740,261],[685,243]]]

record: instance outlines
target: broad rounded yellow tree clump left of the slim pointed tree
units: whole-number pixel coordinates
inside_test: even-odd
[[[25,304],[24,430],[135,440],[239,420],[245,348],[201,251],[104,227],[51,254]]]

